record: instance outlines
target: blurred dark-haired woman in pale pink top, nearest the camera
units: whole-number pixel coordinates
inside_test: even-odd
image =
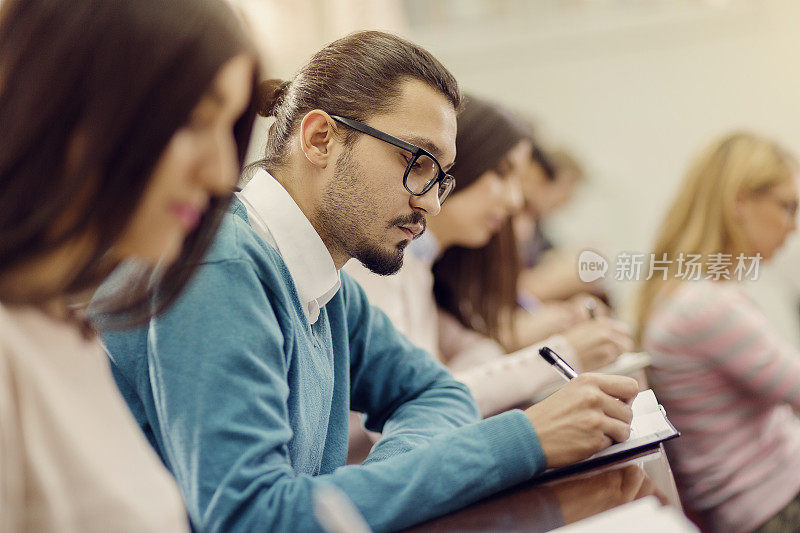
[[[235,185],[255,81],[222,2],[3,3],[0,530],[187,528],[78,304],[129,259],[138,281],[97,302],[117,324],[180,293]]]

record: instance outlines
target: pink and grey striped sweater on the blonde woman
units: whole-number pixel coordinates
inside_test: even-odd
[[[712,531],[751,531],[800,491],[800,353],[733,282],[684,282],[647,322],[670,462]]]

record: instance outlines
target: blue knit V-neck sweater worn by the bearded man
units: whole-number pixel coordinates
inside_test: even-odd
[[[319,531],[311,491],[333,483],[373,529],[396,530],[544,469],[524,413],[479,421],[466,387],[341,277],[309,325],[280,255],[235,202],[178,302],[104,334],[195,528]],[[359,466],[343,466],[350,409],[383,433]]]

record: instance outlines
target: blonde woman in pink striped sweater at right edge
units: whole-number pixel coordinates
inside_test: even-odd
[[[751,258],[769,260],[797,229],[797,170],[784,149],[753,134],[711,144],[658,235],[654,257],[666,272],[640,293],[650,379],[682,433],[668,448],[672,466],[686,505],[711,531],[797,527],[800,353],[739,280],[755,277]]]

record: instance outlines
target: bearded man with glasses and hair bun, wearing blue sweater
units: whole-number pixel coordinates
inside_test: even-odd
[[[117,383],[202,531],[318,531],[335,484],[397,530],[625,439],[628,378],[582,376],[479,421],[466,387],[412,346],[339,269],[396,271],[453,187],[460,94],[418,46],[332,43],[267,82],[264,160],[165,315],[107,332]],[[348,412],[383,438],[344,467]]]

